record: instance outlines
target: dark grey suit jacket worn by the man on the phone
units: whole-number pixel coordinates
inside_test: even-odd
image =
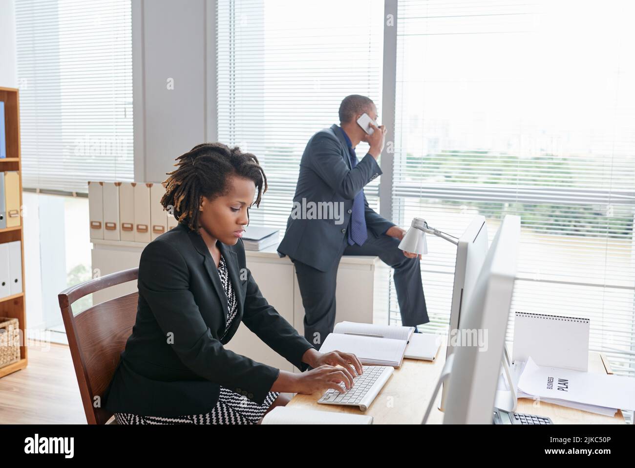
[[[342,222],[337,224],[339,220],[335,219],[304,219],[291,212],[283,240],[277,248],[279,255],[288,255],[326,272],[340,252],[355,196],[381,174],[377,161],[369,153],[351,169],[349,147],[337,125],[313,135],[300,160],[293,202],[302,205],[305,199],[315,203],[342,203]],[[368,230],[377,238],[395,225],[368,206],[366,195],[364,219]]]

